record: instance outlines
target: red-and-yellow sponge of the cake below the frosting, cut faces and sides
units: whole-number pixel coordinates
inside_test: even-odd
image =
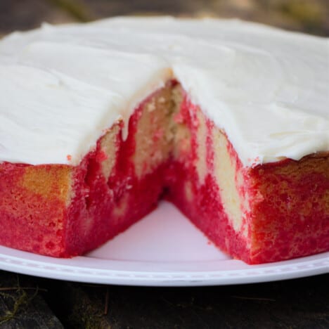
[[[0,165],[0,243],[54,257],[92,250],[167,198],[250,264],[328,250],[329,157],[244,167],[175,81],[116,122],[76,166]]]

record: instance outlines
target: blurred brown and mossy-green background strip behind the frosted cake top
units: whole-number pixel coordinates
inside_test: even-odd
[[[0,36],[115,15],[241,18],[329,36],[329,0],[0,0]]]

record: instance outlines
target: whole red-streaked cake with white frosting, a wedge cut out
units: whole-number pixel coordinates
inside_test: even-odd
[[[329,41],[112,18],[0,41],[0,244],[93,250],[165,198],[249,264],[329,250]]]

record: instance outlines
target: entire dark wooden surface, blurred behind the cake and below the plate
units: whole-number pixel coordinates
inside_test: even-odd
[[[329,36],[328,0],[0,0],[0,35],[110,15],[239,17]],[[206,288],[87,285],[0,271],[0,328],[329,328],[329,274]]]

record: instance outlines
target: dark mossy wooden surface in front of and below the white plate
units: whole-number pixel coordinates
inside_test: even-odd
[[[329,275],[200,288],[0,278],[0,328],[329,328]]]

